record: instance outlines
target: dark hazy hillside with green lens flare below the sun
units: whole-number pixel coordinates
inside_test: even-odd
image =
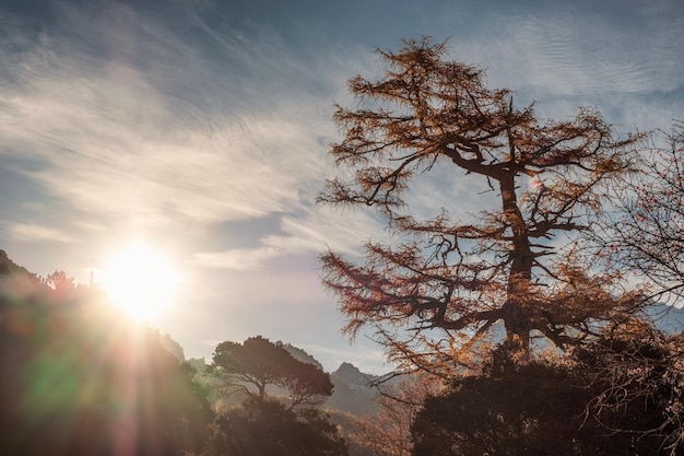
[[[0,454],[22,456],[192,452],[212,419],[158,332],[120,318],[98,290],[42,280],[4,252],[0,409]]]

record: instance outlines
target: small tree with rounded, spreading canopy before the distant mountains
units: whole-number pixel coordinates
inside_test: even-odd
[[[224,390],[229,394],[241,390],[256,400],[267,398],[269,385],[287,388],[290,408],[319,404],[325,396],[332,394],[330,375],[296,360],[287,350],[261,336],[250,337],[244,343],[219,343],[212,372],[222,382]]]

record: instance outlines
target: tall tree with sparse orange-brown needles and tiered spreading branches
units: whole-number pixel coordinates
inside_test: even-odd
[[[574,239],[600,213],[606,187],[633,169],[640,137],[616,139],[586,108],[540,120],[531,106],[516,108],[511,92],[485,87],[481,70],[444,60],[445,44],[406,40],[378,54],[385,77],[353,78],[356,107],[334,114],[345,133],[330,151],[340,177],[319,197],[375,208],[393,236],[367,243],[364,265],[322,255],[344,331],[353,338],[367,326],[390,359],[434,371],[440,359],[463,361],[499,323],[524,356],[531,336],[565,348],[633,312],[638,293],[590,271]],[[427,173],[443,180],[420,194]],[[421,218],[421,197],[455,210],[476,198],[482,211],[468,221],[446,210]]]

